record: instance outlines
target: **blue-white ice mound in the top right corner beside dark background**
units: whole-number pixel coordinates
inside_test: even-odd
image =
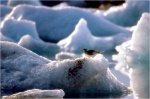
[[[136,25],[140,19],[142,13],[150,12],[149,0],[126,0],[126,3],[111,7],[109,10],[103,13],[104,17],[121,26],[133,26]],[[96,15],[101,16],[101,12],[97,12]]]

